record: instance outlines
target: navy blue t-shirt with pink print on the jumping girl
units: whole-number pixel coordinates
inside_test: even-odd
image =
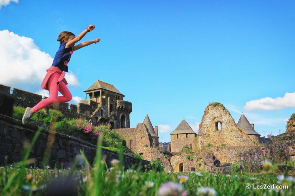
[[[63,72],[68,72],[68,62],[70,61],[71,55],[74,51],[72,47],[65,48],[65,44],[67,43],[60,44],[53,59],[52,66],[58,67]]]

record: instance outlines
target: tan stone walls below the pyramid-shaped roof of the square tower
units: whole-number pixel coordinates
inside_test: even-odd
[[[178,135],[178,138],[177,138]],[[195,146],[194,139],[196,134],[189,133],[187,134],[171,134],[171,152],[180,152],[183,146],[188,146],[191,149],[195,149],[198,146]]]

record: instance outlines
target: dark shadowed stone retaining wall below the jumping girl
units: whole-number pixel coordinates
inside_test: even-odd
[[[32,140],[37,129],[37,126],[32,124],[23,125],[19,120],[0,114],[0,164],[4,165],[6,156],[8,164],[20,161],[24,145],[27,145]],[[80,150],[84,150],[84,154],[90,163],[94,161],[95,145],[74,137],[42,129],[29,158],[35,158],[37,167],[42,167],[45,152],[48,151],[50,155],[48,165],[50,167],[55,167],[55,165],[61,167],[63,165],[64,168],[67,168],[75,159],[81,160]],[[102,156],[105,157],[106,164],[111,166],[111,161],[118,159],[119,154],[102,149]],[[138,160],[132,156],[124,155],[123,159],[125,168],[138,164]],[[148,163],[146,160],[142,161],[142,165]]]

